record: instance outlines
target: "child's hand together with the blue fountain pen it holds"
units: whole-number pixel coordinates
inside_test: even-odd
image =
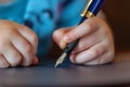
[[[55,66],[61,64],[67,55],[70,57],[72,62],[79,64],[103,64],[113,60],[114,42],[110,28],[104,21],[94,17],[103,1],[89,0],[81,14],[80,25],[73,29],[60,29],[54,33],[53,38],[57,45],[68,44]]]

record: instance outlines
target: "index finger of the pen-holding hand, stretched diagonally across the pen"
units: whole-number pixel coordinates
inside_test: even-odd
[[[88,18],[82,24],[68,32],[63,39],[66,42],[72,42],[78,38],[87,36],[90,33],[93,33],[98,28],[99,26],[96,25],[95,21],[93,18]]]

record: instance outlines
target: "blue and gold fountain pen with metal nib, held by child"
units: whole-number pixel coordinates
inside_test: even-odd
[[[98,14],[98,12],[100,11],[103,2],[104,2],[104,0],[89,0],[87,7],[84,8],[83,12],[80,15],[81,20],[80,20],[79,24],[81,24],[84,20],[87,20],[89,17],[95,16]],[[62,55],[57,59],[54,67],[57,67],[60,64],[62,64],[64,62],[65,59],[67,59],[69,57],[69,54],[72,53],[74,48],[78,45],[78,42],[79,42],[79,39],[77,39],[66,46],[66,48],[63,50]]]

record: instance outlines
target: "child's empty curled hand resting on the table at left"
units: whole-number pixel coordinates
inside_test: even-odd
[[[30,28],[0,21],[0,67],[37,64],[38,39]]]

